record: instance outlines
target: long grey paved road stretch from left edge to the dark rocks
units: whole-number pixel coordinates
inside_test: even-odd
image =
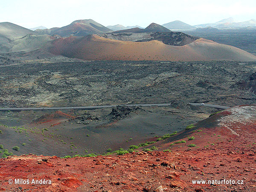
[[[102,105],[102,106],[80,106],[80,107],[57,107],[57,108],[0,108],[0,111],[14,111],[14,110],[62,110],[62,109],[98,109],[98,108],[113,108],[116,106],[169,106],[170,103],[159,103],[159,104],[124,104],[124,105]]]

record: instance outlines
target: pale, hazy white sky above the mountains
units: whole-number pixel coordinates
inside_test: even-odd
[[[93,19],[108,26],[148,26],[181,20],[190,25],[228,17],[256,19],[256,0],[0,0],[0,22],[33,28]]]

